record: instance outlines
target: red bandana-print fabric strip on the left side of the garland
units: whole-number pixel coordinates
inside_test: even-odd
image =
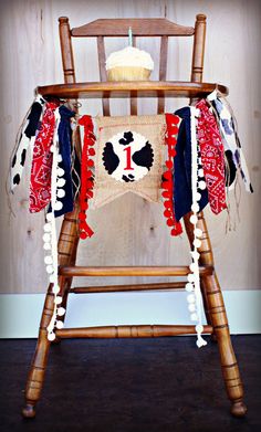
[[[30,204],[31,213],[44,209],[51,201],[51,173],[53,156],[50,150],[55,127],[54,110],[59,102],[48,102],[43,113],[42,124],[33,146]]]

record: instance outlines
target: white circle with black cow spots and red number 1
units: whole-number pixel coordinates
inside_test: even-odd
[[[103,165],[115,180],[133,182],[148,173],[154,162],[152,144],[136,131],[114,135],[103,148]]]

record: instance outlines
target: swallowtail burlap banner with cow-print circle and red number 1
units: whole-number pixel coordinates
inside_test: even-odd
[[[165,115],[97,117],[94,198],[100,208],[126,192],[160,198]]]

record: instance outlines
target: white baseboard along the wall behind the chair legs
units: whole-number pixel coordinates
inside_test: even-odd
[[[223,291],[231,334],[261,333],[261,289]],[[35,338],[43,294],[0,295],[0,338]],[[71,294],[66,327],[189,324],[186,292]]]

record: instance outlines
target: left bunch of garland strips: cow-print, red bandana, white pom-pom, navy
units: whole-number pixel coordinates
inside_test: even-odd
[[[39,125],[39,122],[36,125],[35,117],[38,115],[40,119],[41,116],[35,103],[32,105],[29,117],[34,123],[29,123],[30,127],[28,126],[25,130],[30,129],[32,134],[35,129],[36,135],[31,168],[30,211],[38,212],[50,204],[46,222],[43,226],[43,249],[45,251],[46,273],[54,294],[54,310],[48,326],[48,338],[54,340],[54,328],[62,328],[63,325],[58,317],[65,313],[65,309],[59,306],[62,303],[62,297],[58,295],[60,287],[55,218],[72,211],[74,204],[73,190],[75,188],[72,178],[74,178],[75,183],[80,175],[79,159],[75,151],[72,151],[71,118],[75,116],[75,113],[65,106],[60,106],[60,101],[45,102],[41,125]],[[23,141],[20,140],[20,144],[23,145]],[[21,148],[20,145],[17,155],[21,152]],[[71,164],[72,152],[74,154],[73,167]],[[11,185],[13,185],[13,168],[14,164],[11,168]],[[72,171],[74,171],[73,176]]]

